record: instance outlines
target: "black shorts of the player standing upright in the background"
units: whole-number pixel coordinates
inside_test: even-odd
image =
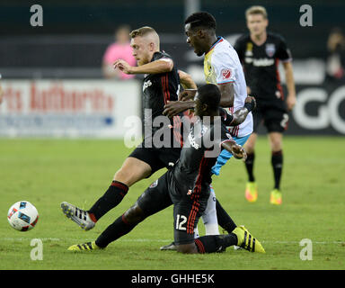
[[[288,129],[288,110],[282,101],[264,102],[259,99],[257,107],[252,112],[252,120],[254,133],[261,123],[269,133],[282,133]]]

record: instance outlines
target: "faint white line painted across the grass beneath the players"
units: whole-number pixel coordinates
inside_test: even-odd
[[[0,238],[0,241],[13,241],[13,242],[22,242],[22,241],[31,241],[33,238]],[[58,242],[58,241],[71,241],[75,243],[79,242],[88,242],[93,241],[94,239],[85,238],[81,240],[79,238],[40,238],[42,242],[51,241],[51,242]],[[345,245],[345,241],[313,241],[313,244],[320,244],[320,245]],[[137,239],[119,239],[118,241],[121,242],[165,242],[170,243],[172,241],[171,238],[169,239],[149,239],[149,238],[137,238]],[[299,244],[300,241],[281,241],[281,240],[261,240],[262,244]]]

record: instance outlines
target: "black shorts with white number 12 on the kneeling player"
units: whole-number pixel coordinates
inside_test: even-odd
[[[206,191],[205,191],[206,190]],[[146,217],[173,204],[173,236],[176,245],[194,242],[194,229],[205,211],[209,195],[206,185],[199,197],[179,191],[175,186],[172,170],[155,180],[137,199],[137,205]]]

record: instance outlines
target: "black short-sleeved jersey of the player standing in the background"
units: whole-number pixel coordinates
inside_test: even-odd
[[[291,60],[285,40],[278,34],[268,32],[267,40],[258,46],[246,34],[236,41],[234,49],[243,64],[245,80],[252,90],[251,94],[264,101],[283,100],[279,60]]]

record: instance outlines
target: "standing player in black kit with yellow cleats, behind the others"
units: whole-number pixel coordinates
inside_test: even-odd
[[[258,197],[258,187],[253,174],[254,148],[258,126],[263,122],[269,133],[271,165],[274,175],[270,203],[281,204],[282,135],[288,127],[288,111],[296,103],[292,58],[285,40],[278,34],[266,31],[269,21],[264,7],[250,7],[246,10],[245,17],[249,34],[240,37],[236,41],[234,49],[243,63],[248,94],[254,95],[257,101],[257,108],[252,113],[254,130],[244,145],[248,153],[245,166],[249,177],[245,197],[249,202],[255,202]],[[288,87],[286,103],[280,85],[279,61],[283,64]]]

